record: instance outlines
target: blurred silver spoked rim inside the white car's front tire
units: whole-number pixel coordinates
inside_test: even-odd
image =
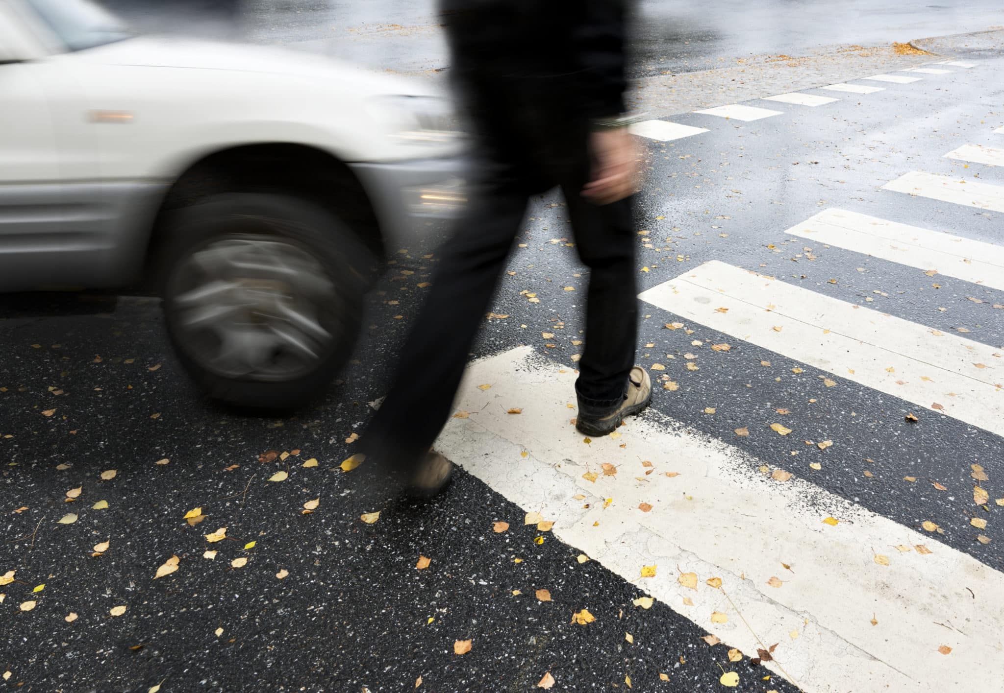
[[[274,236],[226,236],[174,267],[168,309],[179,346],[227,378],[311,372],[344,332],[344,302],[310,253]]]

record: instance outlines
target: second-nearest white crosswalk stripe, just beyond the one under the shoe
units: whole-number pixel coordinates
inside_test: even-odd
[[[947,416],[1004,435],[1004,359],[985,344],[718,261],[639,298],[920,407],[938,404],[933,408]]]

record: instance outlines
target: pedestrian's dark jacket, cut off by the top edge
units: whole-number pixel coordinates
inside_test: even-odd
[[[441,0],[450,70],[464,89],[518,91],[578,117],[618,115],[630,1]]]

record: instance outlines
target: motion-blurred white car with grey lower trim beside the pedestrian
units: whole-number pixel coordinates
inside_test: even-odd
[[[424,84],[0,0],[0,290],[144,282],[211,396],[301,404],[385,246],[462,204],[452,123]]]

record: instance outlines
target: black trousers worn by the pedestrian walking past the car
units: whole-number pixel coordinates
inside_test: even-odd
[[[407,468],[439,435],[528,197],[555,186],[564,193],[575,250],[589,268],[576,393],[593,406],[623,398],[638,333],[632,202],[596,206],[579,195],[590,175],[588,122],[512,96],[507,107],[472,108],[480,159],[471,201],[453,238],[437,252],[432,287],[401,353],[396,382],[360,440],[374,461]],[[504,103],[497,90],[492,102]],[[544,298],[535,309],[546,306]]]

